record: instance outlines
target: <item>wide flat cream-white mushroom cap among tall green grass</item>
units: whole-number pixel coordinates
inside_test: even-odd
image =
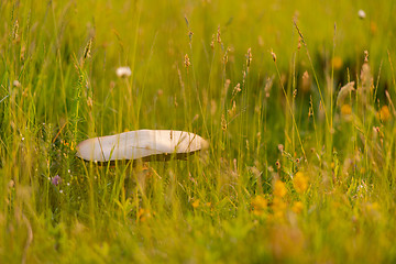
[[[174,130],[136,130],[92,138],[77,145],[77,156],[90,162],[168,161],[186,158],[209,147],[201,136]]]

